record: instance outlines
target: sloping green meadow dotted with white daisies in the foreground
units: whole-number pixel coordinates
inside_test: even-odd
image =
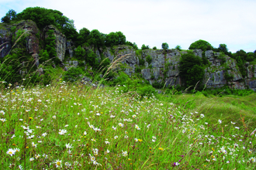
[[[11,85],[10,85],[11,86]],[[256,132],[157,97],[82,84],[0,93],[2,169],[253,169]]]

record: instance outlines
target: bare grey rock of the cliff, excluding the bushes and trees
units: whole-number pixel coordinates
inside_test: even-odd
[[[72,58],[74,56],[73,42],[67,40],[55,26],[46,26],[43,32],[37,28],[35,22],[31,20],[21,21],[13,25],[0,24],[0,57],[5,57],[10,50],[23,48],[27,54],[35,60],[36,66],[39,66],[39,53],[43,46],[41,41],[47,38],[47,32],[54,30],[57,57],[61,60],[64,70],[68,70],[71,66],[85,65],[85,70],[90,70],[85,61]],[[25,45],[15,43],[18,33],[26,32]],[[25,46],[25,47],[24,47]],[[131,46],[114,46],[106,49],[95,49],[93,46],[84,47],[87,51],[93,50],[97,59],[101,62],[102,56],[110,59],[111,62],[120,59],[123,66],[116,66],[116,70],[123,70],[129,76],[137,74],[143,77],[150,84],[159,83],[167,87],[182,86],[182,80],[178,74],[179,60],[186,51],[178,51],[177,49],[146,49],[135,51]],[[250,88],[256,90],[256,65],[246,63],[247,75],[243,77],[234,59],[225,56],[222,53],[215,53],[212,50],[202,52],[201,49],[193,50],[195,56],[208,59],[210,66],[206,67],[205,75],[202,80],[208,88],[218,88],[228,85],[236,89]],[[64,56],[69,56],[65,59]],[[123,57],[126,56],[126,57]],[[72,58],[72,59],[71,59]],[[22,70],[26,74],[26,70]],[[43,70],[39,70],[43,73]],[[228,77],[228,80],[227,80]]]

